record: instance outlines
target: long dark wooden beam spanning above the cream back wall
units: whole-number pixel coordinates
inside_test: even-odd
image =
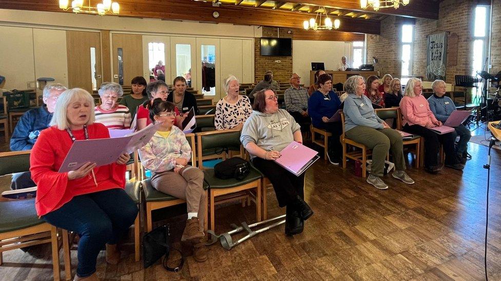
[[[22,2],[2,0],[0,1],[0,9],[63,12],[59,8],[57,1],[42,3],[38,0],[23,0]],[[218,18],[212,16],[214,11],[219,12]],[[249,8],[235,5],[213,7],[212,2],[186,0],[157,1],[155,4],[151,4],[151,1],[148,0],[121,0],[120,15],[286,28],[301,28],[303,21],[309,20],[311,17],[310,14],[287,10]],[[341,26],[338,31],[368,34],[379,34],[380,32],[379,21],[350,17],[340,18],[340,20]]]

